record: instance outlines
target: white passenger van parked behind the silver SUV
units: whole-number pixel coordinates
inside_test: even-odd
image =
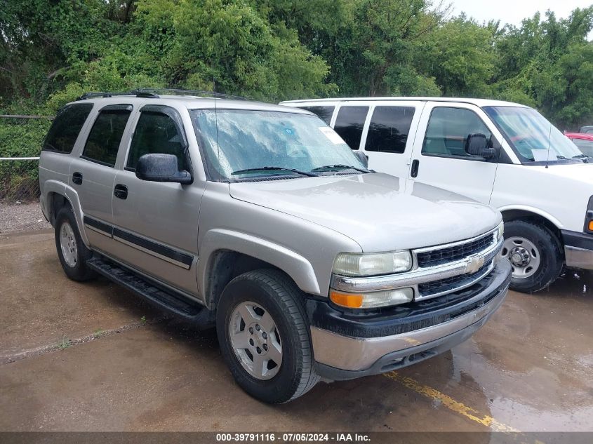
[[[512,288],[547,287],[563,264],[593,269],[593,159],[535,109],[498,100],[293,100],[332,126],[369,167],[498,208]]]

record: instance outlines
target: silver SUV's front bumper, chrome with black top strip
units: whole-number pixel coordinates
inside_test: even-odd
[[[307,300],[317,372],[333,380],[376,375],[424,361],[464,342],[505,300],[507,260],[472,287],[376,314],[347,314]]]

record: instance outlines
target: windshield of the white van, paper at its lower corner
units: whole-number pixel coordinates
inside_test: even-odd
[[[521,161],[579,161],[579,149],[531,108],[484,107]]]

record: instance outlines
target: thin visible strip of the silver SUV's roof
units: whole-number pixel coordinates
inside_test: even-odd
[[[196,95],[154,95],[154,97],[138,96],[134,93],[119,94],[111,97],[89,97],[81,98],[71,103],[100,103],[104,105],[126,104],[126,105],[168,105],[179,106],[187,109],[253,109],[261,111],[291,112],[298,114],[310,114],[303,109],[294,107],[283,107],[265,102],[251,102],[250,100],[227,99],[215,97],[199,97]]]

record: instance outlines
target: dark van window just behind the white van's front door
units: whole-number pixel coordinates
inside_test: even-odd
[[[414,107],[375,107],[364,149],[382,153],[406,151],[414,111]]]

